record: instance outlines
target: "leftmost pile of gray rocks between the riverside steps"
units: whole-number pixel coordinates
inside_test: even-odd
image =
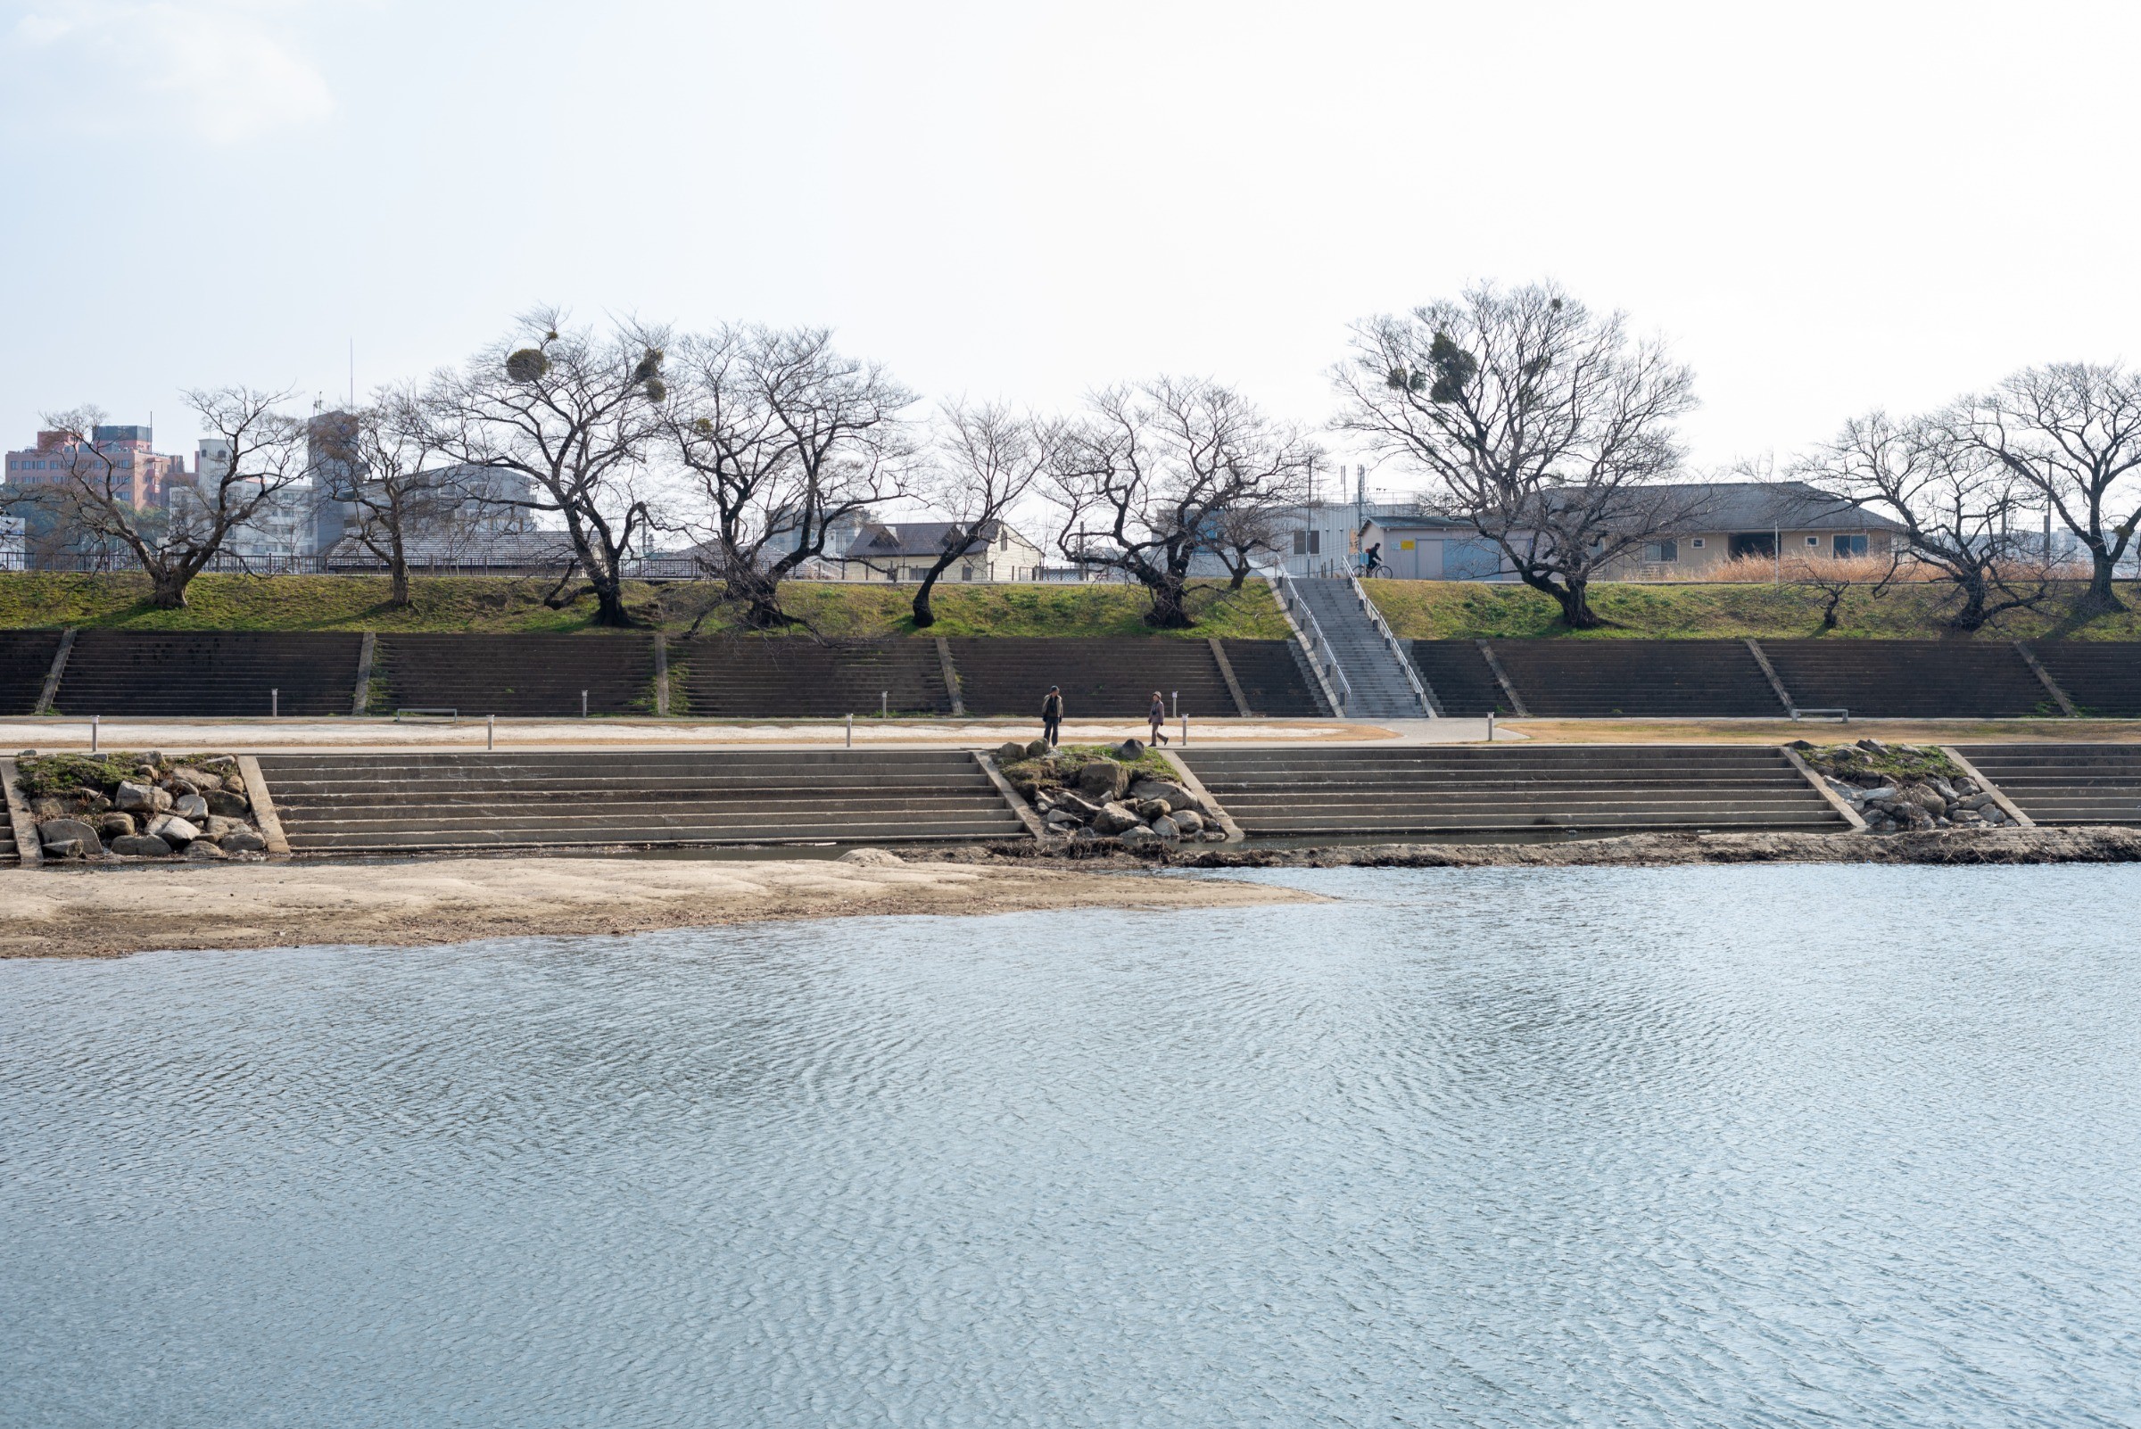
[[[109,789],[71,789],[30,802],[45,858],[257,860],[268,841],[238,759],[216,755],[169,764],[141,755],[131,779]]]

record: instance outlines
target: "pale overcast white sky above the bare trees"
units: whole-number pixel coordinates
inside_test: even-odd
[[[1557,278],[1721,464],[2047,359],[2135,282],[2132,4],[0,0],[0,439],[338,394],[537,299],[829,323],[927,394],[1306,421],[1347,323]]]

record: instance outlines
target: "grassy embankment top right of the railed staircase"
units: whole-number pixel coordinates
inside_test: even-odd
[[[1760,584],[1597,584],[1591,608],[1606,629],[1571,631],[1561,608],[1529,586],[1456,580],[1364,582],[1390,627],[1407,640],[1801,640],[1822,635],[1828,597],[1811,586]],[[2141,640],[2141,610],[2087,623],[2068,618],[2079,584],[2055,593],[2038,612],[1998,616],[1976,640]],[[2120,584],[2120,597],[2141,605],[2141,590]],[[1953,588],[1891,586],[1882,595],[1852,590],[1837,608],[1835,640],[1968,640],[1950,631]]]

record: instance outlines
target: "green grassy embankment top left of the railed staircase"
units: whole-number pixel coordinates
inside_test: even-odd
[[[595,601],[544,605],[555,580],[505,575],[428,575],[409,582],[411,603],[388,610],[385,578],[370,575],[201,575],[186,610],[154,610],[141,575],[0,573],[0,629],[90,627],[128,631],[379,631],[379,633],[537,633],[591,631]],[[1287,620],[1261,582],[1227,590],[1193,582],[1188,631],[1203,640],[1285,640]],[[938,586],[936,625],[916,631],[912,586],[794,582],[784,586],[790,614],[833,637],[899,635],[1154,635],[1145,597],[1135,586]],[[629,584],[627,608],[649,627],[683,633],[713,603],[707,586]],[[737,629],[734,610],[715,610],[700,633]]]

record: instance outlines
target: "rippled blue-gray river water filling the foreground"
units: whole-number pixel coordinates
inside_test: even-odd
[[[2141,1423],[2141,873],[1257,877],[0,965],[0,1423]]]

